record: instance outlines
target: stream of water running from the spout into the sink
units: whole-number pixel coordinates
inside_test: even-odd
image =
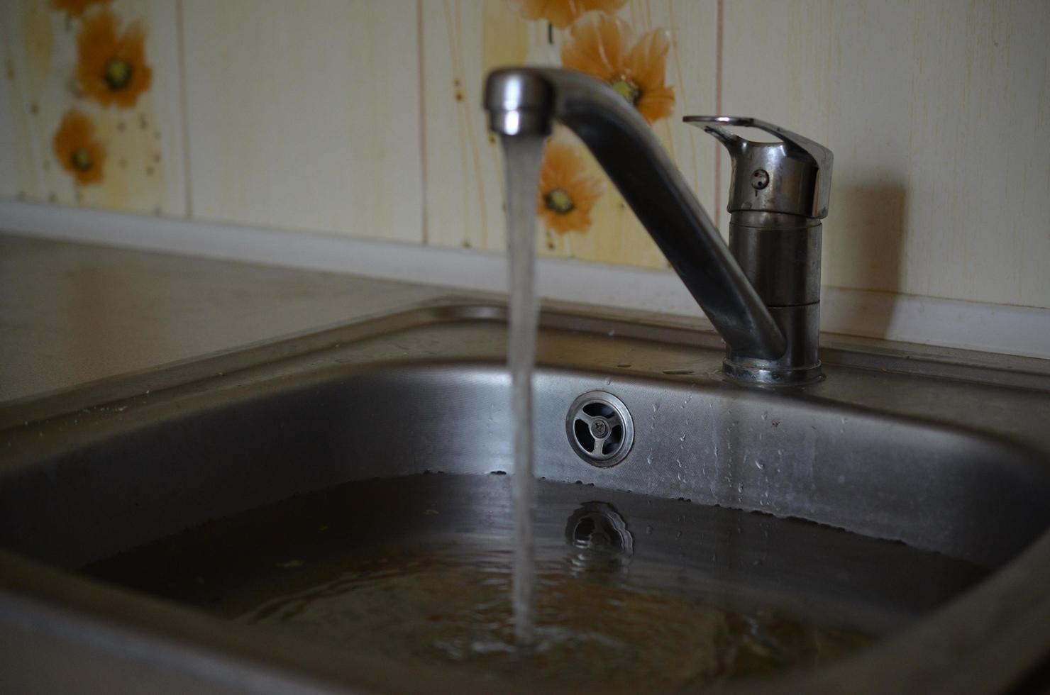
[[[510,332],[507,359],[514,423],[514,555],[511,596],[514,640],[533,641],[536,599],[532,510],[536,479],[532,472],[532,365],[539,304],[536,299],[536,197],[544,135],[503,135],[503,166],[507,192],[507,249],[510,260]]]

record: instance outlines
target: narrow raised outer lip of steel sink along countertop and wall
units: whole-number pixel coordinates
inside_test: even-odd
[[[545,328],[566,329],[637,337],[701,350],[723,350],[721,338],[704,318],[566,301],[543,301],[539,316],[541,331]],[[460,321],[505,324],[506,303],[494,300],[492,295],[480,293],[448,295],[349,322],[340,321],[77,386],[0,401],[0,431],[26,422],[185,385],[216,374],[231,374],[410,328]],[[953,379],[1050,394],[1050,359],[830,333],[821,333],[820,350],[823,364],[830,366]]]

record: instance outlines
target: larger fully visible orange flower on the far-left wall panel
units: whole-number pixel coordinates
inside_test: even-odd
[[[135,22],[120,33],[108,9],[88,15],[77,36],[77,84],[103,106],[134,106],[149,89],[153,72],[146,65],[146,29]]]

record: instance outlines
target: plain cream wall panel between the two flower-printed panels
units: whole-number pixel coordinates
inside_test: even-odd
[[[422,241],[415,0],[184,0],[201,219]]]

